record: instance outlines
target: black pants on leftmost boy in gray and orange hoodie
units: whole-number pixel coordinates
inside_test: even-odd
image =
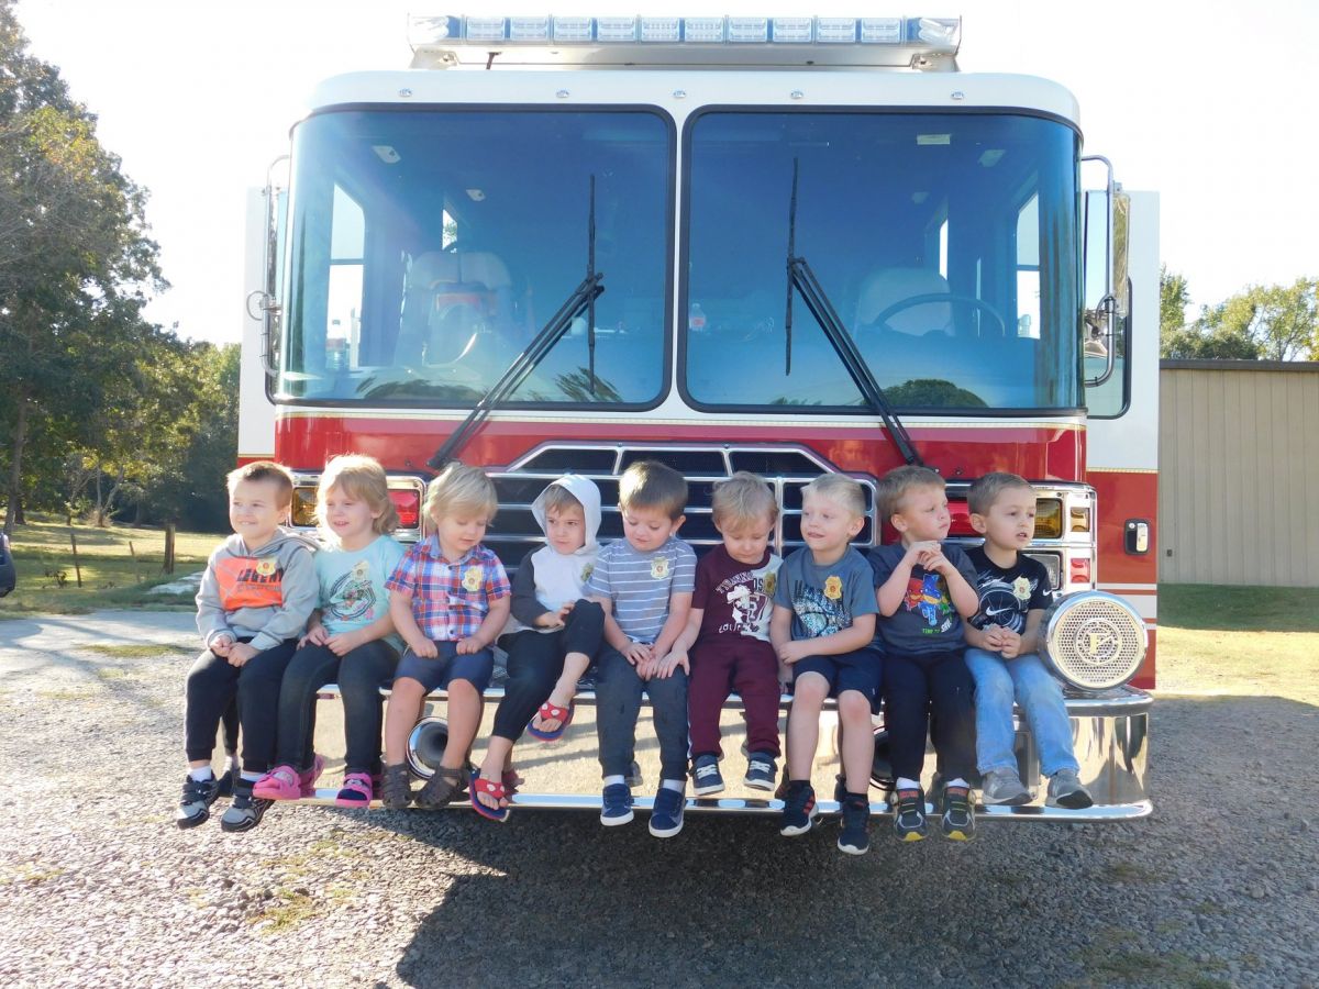
[[[183,719],[189,762],[212,757],[220,720],[237,702],[239,725],[243,728],[243,771],[265,773],[270,769],[280,680],[297,647],[298,640],[285,640],[257,653],[243,666],[231,666],[228,659],[210,649],[197,658],[187,674]],[[226,724],[226,744],[230,742],[228,731]]]

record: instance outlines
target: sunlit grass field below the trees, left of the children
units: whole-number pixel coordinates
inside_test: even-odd
[[[153,596],[145,591],[204,567],[223,538],[212,533],[177,533],[174,574],[169,575],[162,572],[164,529],[96,529],[75,524],[71,531],[78,538],[78,568],[66,522],[36,516],[28,525],[15,527],[11,546],[18,584],[0,599],[0,618],[33,612],[80,614],[98,608],[193,608],[191,595]],[[78,587],[79,570],[82,587]]]

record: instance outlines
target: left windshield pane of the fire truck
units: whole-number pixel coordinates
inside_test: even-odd
[[[504,405],[644,406],[670,375],[673,124],[645,109],[340,109],[294,133],[278,398],[471,406],[587,269],[584,318]]]

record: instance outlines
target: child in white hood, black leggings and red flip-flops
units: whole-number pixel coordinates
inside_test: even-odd
[[[584,599],[599,550],[599,488],[563,475],[539,493],[532,514],[546,545],[528,553],[513,576],[513,613],[499,642],[508,653],[508,682],[485,760],[472,777],[472,807],[491,820],[508,818],[508,798],[520,782],[513,745],[524,729],[541,741],[563,737],[576,683],[604,637],[604,609]]]

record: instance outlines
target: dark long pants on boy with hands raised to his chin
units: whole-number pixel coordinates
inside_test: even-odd
[[[962,653],[884,657],[884,723],[896,777],[919,779],[931,728],[944,779],[976,771],[975,682]]]

